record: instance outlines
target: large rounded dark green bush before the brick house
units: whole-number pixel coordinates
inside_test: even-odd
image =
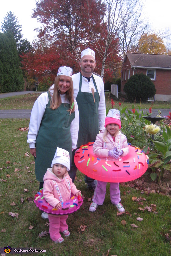
[[[155,85],[151,79],[143,73],[135,74],[130,77],[124,85],[124,92],[130,101],[145,101],[148,97],[153,97],[156,93]]]

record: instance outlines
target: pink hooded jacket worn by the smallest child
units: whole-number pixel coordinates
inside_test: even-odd
[[[80,190],[78,190],[76,188],[75,184],[72,182],[72,179],[69,177],[69,175],[67,174],[66,176],[68,177],[70,185],[71,185],[71,192],[74,195],[77,192],[80,192]],[[43,181],[44,181],[43,196],[46,199],[46,201],[50,205],[52,205],[52,207],[54,207],[54,208],[58,203],[60,203],[60,200],[59,200],[59,196],[58,196],[58,193],[57,193],[57,190],[55,188],[55,184],[54,184],[53,180],[56,181],[56,183],[59,187],[59,190],[60,190],[63,201],[65,202],[65,201],[70,199],[70,189],[69,189],[69,186],[67,184],[67,181],[66,181],[65,177],[64,177],[64,179],[60,180],[52,172],[52,168],[48,168],[45,175],[44,175],[44,178],[43,178]]]

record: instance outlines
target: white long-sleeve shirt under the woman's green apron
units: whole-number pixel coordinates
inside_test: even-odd
[[[53,89],[54,85],[51,86],[50,89]],[[51,97],[53,95],[53,90],[50,90]],[[62,103],[69,103],[68,100],[65,99],[65,94],[61,95],[61,102]],[[27,143],[29,143],[30,148],[35,148],[37,134],[40,128],[41,120],[43,118],[46,105],[48,104],[49,97],[48,93],[42,93],[38,99],[35,101],[34,106],[31,111],[30,116],[30,124],[29,124],[29,132],[28,132],[28,139]],[[75,105],[75,118],[71,122],[70,125],[70,132],[71,132],[71,139],[72,139],[72,150],[76,149],[77,147],[77,140],[78,140],[78,130],[79,130],[79,112],[78,112],[78,104],[74,99]]]

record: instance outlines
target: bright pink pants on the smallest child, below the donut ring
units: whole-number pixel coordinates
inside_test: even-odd
[[[64,230],[68,229],[68,225],[66,223],[66,220],[68,218],[67,215],[50,215],[49,214],[49,233],[50,238],[53,241],[56,241],[58,238],[60,238],[61,234],[60,232],[63,232]]]

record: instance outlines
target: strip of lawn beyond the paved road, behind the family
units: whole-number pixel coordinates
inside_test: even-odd
[[[41,92],[40,92],[41,93]],[[40,94],[38,93],[29,93],[25,95],[19,95],[19,96],[13,96],[9,98],[2,98],[0,99],[0,109],[32,109],[34,102],[39,97]],[[106,98],[106,107],[111,108],[111,99],[114,99],[115,102],[115,108],[119,107],[119,102],[121,102],[121,107],[128,107],[128,109],[132,109],[132,104],[130,102],[126,102],[125,100],[119,100],[115,98],[114,95],[109,92],[105,92],[105,98]],[[152,102],[147,101],[145,103],[136,102],[135,107],[138,109],[138,105],[141,106],[141,109],[149,109],[152,105]],[[171,109],[171,102],[167,101],[155,101],[153,106],[153,109]]]

